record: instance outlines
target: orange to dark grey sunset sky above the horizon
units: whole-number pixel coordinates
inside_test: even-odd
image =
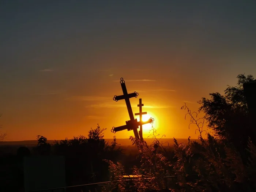
[[[232,2],[232,3],[230,3]],[[87,135],[155,118],[166,138],[197,138],[184,120],[209,93],[256,76],[256,3],[247,1],[0,1],[0,124],[7,140]],[[147,136],[144,131],[144,137]],[[121,131],[128,138],[132,131]]]

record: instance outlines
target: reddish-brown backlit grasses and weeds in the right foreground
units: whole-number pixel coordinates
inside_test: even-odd
[[[202,138],[204,120],[196,119],[197,114],[191,113],[186,105],[182,109],[188,110],[191,123],[197,125],[200,142],[178,143],[174,138],[173,148],[165,148],[161,139],[157,139],[153,128],[155,143],[148,145],[133,138],[141,160],[140,167],[132,167],[133,175],[141,176],[133,183],[127,184],[122,177],[125,175],[121,163],[109,163],[109,169],[114,175],[112,188],[118,191],[162,191],[173,192],[222,192],[222,191],[255,191],[256,147],[248,140],[247,151],[250,158],[246,163],[242,161],[240,153],[233,145],[214,138],[207,133],[207,139]],[[171,155],[174,153],[174,155]],[[164,178],[164,176],[172,176]],[[109,191],[109,189],[105,189]]]

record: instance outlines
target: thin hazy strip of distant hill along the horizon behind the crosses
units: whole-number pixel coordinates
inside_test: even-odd
[[[113,139],[105,139],[109,144],[113,141]],[[153,143],[154,139],[151,138],[145,138],[144,139],[147,144]],[[198,141],[198,139],[191,139],[191,141]],[[132,142],[129,139],[117,139],[116,140],[118,144],[121,144],[121,146],[131,146]],[[188,139],[177,139],[178,143],[187,143]],[[47,140],[48,143],[53,144],[54,140]],[[173,139],[171,138],[162,138],[160,142],[165,143],[164,145],[167,146],[169,143],[169,146],[172,146],[174,144]],[[168,142],[168,143],[167,143]],[[4,141],[0,142],[0,146],[27,146],[27,147],[33,147],[37,145],[37,140],[26,140],[26,141]]]

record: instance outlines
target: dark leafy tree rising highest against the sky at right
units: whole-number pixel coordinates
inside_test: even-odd
[[[243,83],[254,80],[252,75],[237,76],[237,86],[228,86],[224,95],[210,93],[211,99],[202,98],[199,112],[204,112],[208,126],[215,131],[216,136],[225,139],[241,152],[247,146],[248,137],[255,143],[253,130],[250,127],[248,108],[243,90]]]

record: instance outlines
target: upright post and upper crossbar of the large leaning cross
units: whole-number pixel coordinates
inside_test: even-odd
[[[127,89],[126,89],[126,86],[125,86],[125,82],[124,82],[124,79],[121,78],[120,80],[120,83],[121,83],[121,87],[122,87],[122,90],[123,90],[123,95],[119,95],[119,96],[114,96],[113,100],[114,101],[119,101],[121,99],[124,99],[125,100],[125,103],[126,103],[126,106],[127,106],[127,110],[128,110],[128,113],[129,113],[129,117],[130,117],[130,121],[129,122],[126,122],[128,126],[128,130],[131,128],[133,129],[133,133],[134,133],[134,136],[139,139],[139,133],[138,133],[138,130],[137,128],[138,127],[135,127],[134,126],[134,123],[135,121],[137,121],[137,119],[135,120],[134,119],[134,116],[133,116],[133,112],[132,112],[132,106],[131,106],[131,103],[130,103],[130,98],[132,97],[138,97],[138,93],[136,93],[136,91],[134,93],[129,93],[127,92]],[[125,125],[124,125],[125,126]]]

